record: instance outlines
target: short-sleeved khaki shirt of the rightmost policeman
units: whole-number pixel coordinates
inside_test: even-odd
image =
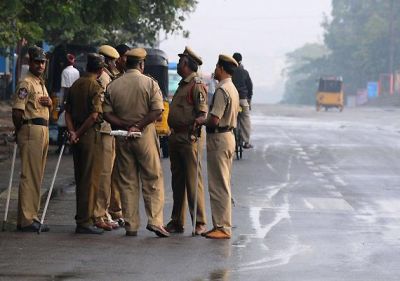
[[[236,128],[239,93],[231,78],[218,83],[210,105],[210,114],[219,118],[218,127]]]

